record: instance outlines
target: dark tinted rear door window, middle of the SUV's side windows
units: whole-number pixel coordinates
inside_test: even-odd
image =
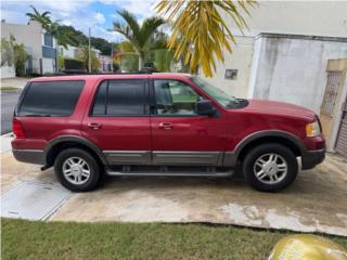
[[[141,116],[145,114],[142,79],[103,81],[94,99],[92,116]]]

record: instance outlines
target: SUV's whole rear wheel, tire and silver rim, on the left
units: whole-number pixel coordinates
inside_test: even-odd
[[[91,191],[100,180],[98,161],[80,148],[61,152],[55,159],[54,171],[61,184],[73,192]]]

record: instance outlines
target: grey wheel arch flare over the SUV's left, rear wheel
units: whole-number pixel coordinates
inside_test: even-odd
[[[47,166],[53,166],[57,154],[69,147],[79,147],[89,152],[101,166],[107,164],[102,151],[94,143],[81,136],[63,135],[51,140],[46,145],[43,153]]]

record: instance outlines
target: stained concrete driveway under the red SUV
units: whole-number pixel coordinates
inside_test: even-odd
[[[23,181],[56,183],[53,170],[3,153],[2,194]],[[327,155],[281,193],[260,193],[241,178],[106,178],[72,194],[49,221],[210,222],[347,236],[347,161]]]

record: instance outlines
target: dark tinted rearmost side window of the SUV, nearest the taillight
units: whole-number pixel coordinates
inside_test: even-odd
[[[83,86],[82,80],[33,82],[25,91],[18,116],[68,117]]]

